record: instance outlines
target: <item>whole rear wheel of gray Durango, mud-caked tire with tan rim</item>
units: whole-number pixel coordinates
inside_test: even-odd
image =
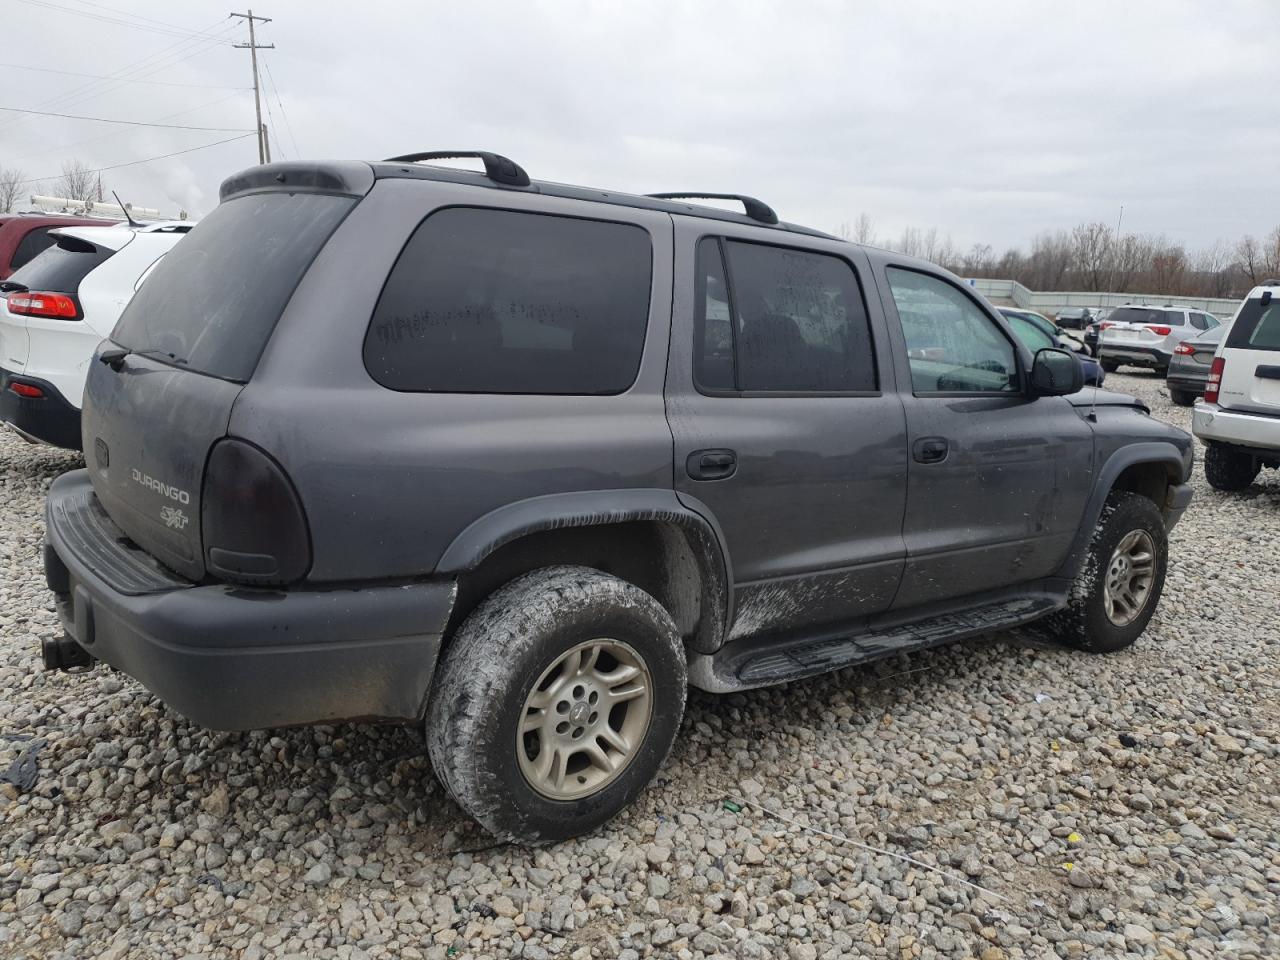
[[[547,567],[498,589],[445,649],[428,707],[431,764],[500,840],[550,844],[630,804],[680,730],[685,649],[640,588]]]

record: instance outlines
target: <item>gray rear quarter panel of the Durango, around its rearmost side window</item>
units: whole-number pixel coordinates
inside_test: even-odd
[[[443,206],[634,223],[653,243],[649,329],[635,384],[616,397],[397,393],[362,344],[387,275]],[[314,581],[429,573],[472,521],[550,493],[672,488],[663,411],[671,323],[667,214],[525,191],[379,180],[320,252],[237,399],[229,433],[269,451],[311,526]]]

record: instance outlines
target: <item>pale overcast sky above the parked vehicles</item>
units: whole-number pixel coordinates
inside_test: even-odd
[[[1275,0],[260,3],[278,159],[486,148],[535,179],[750,193],[820,229],[867,212],[882,238],[937,227],[997,250],[1121,204],[1126,232],[1192,248],[1280,223]],[[0,166],[45,177],[251,129],[229,9],[0,0],[0,106],[232,128],[0,113]],[[102,179],[198,214],[255,161],[247,138]]]

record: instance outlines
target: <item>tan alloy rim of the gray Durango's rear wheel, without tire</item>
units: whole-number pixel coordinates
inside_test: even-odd
[[[652,712],[649,667],[630,644],[579,644],[525,698],[516,732],[520,772],[550,800],[589,796],[631,763]]]

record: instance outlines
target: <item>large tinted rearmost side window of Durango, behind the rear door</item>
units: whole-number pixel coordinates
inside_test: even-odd
[[[394,390],[621,393],[640,369],[652,265],[630,224],[440,210],[387,279],[365,366]]]

